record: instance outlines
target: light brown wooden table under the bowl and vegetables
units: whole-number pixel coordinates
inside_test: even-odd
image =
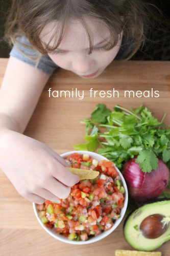
[[[0,60],[2,82],[8,59]],[[84,91],[84,98],[48,97],[48,89]],[[90,98],[90,89],[117,90],[119,97]],[[159,97],[124,97],[124,91],[159,91]],[[55,95],[55,94],[54,94]],[[148,93],[145,93],[147,96]],[[103,95],[102,95],[103,96]],[[113,61],[105,72],[95,79],[82,79],[58,69],[44,88],[37,108],[27,126],[25,135],[40,140],[58,154],[72,151],[72,145],[84,143],[85,126],[80,123],[90,117],[96,104],[104,103],[112,109],[115,104],[137,108],[141,103],[150,108],[156,118],[170,122],[170,62],[163,61]],[[22,198],[0,170],[0,254],[1,256],[78,255],[114,256],[116,249],[133,249],[123,237],[123,223],[107,238],[89,245],[69,245],[60,242],[38,223],[32,203]],[[170,241],[157,249],[163,256],[170,254]]]

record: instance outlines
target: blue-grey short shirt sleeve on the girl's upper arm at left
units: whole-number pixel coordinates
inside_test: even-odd
[[[29,65],[36,67],[36,59],[40,53],[36,50],[33,50],[30,46],[30,41],[24,36],[17,36],[17,41],[15,42],[16,46],[13,46],[10,56],[13,56],[19,60],[22,60]],[[23,45],[22,45],[23,44]],[[28,46],[28,47],[27,47]],[[58,66],[54,61],[46,54],[38,62],[37,69],[51,76],[53,71],[57,69]]]

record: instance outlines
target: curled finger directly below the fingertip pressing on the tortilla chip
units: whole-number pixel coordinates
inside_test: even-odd
[[[50,191],[56,197],[66,199],[70,194],[70,187],[65,186],[55,178],[51,178],[45,186],[45,189]]]

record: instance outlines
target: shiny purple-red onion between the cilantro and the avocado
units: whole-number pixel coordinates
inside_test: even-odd
[[[158,198],[168,185],[169,169],[158,159],[158,167],[151,173],[143,173],[134,157],[124,165],[123,176],[131,198],[139,202]]]

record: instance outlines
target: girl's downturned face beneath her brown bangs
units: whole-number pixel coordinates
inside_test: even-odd
[[[69,70],[82,78],[98,77],[115,58],[121,42],[119,36],[117,45],[109,51],[104,50],[110,39],[109,30],[98,20],[88,20],[87,25],[93,33],[93,50],[89,53],[88,35],[79,21],[70,22],[59,47],[52,53],[50,58],[61,68]],[[50,40],[54,32],[54,23],[48,24],[41,33],[41,40],[45,44]],[[50,31],[50,32],[49,32]],[[54,38],[50,43],[53,47]]]

